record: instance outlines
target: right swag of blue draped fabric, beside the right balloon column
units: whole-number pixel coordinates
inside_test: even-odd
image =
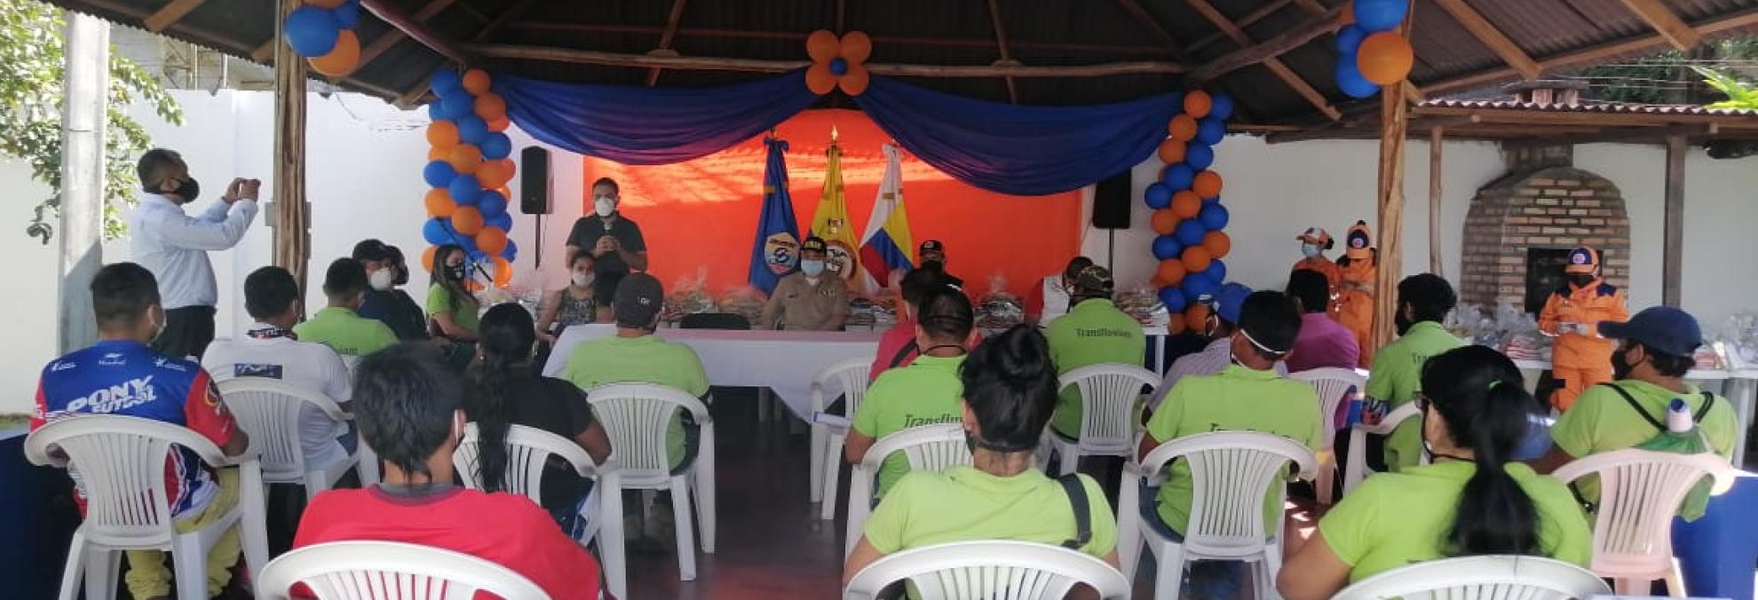
[[[1016,195],[1076,190],[1159,148],[1181,93],[1097,106],[972,100],[874,76],[854,97],[916,158],[974,187]]]

